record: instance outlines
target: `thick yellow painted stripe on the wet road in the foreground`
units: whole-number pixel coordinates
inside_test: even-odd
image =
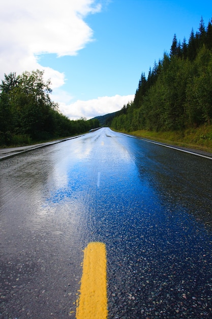
[[[107,318],[106,248],[104,243],[89,243],[84,250],[77,319]]]

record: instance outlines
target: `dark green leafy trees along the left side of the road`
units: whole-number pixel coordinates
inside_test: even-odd
[[[11,72],[0,85],[0,145],[29,144],[81,134],[99,126],[97,119],[70,120],[50,98],[44,71]]]

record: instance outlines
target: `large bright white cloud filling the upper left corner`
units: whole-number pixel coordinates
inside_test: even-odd
[[[62,86],[65,75],[39,64],[42,53],[58,57],[76,55],[93,40],[83,18],[101,10],[96,0],[7,0],[0,10],[0,78],[4,73],[44,69],[52,88]]]

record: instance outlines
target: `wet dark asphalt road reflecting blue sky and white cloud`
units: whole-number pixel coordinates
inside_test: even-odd
[[[102,128],[0,171],[0,318],[74,318],[92,241],[109,318],[212,317],[211,159]]]

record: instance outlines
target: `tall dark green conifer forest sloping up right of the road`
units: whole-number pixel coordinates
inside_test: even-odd
[[[192,28],[189,41],[174,34],[169,54],[141,73],[134,101],[124,105],[108,125],[118,130],[181,130],[211,123],[212,19]]]

